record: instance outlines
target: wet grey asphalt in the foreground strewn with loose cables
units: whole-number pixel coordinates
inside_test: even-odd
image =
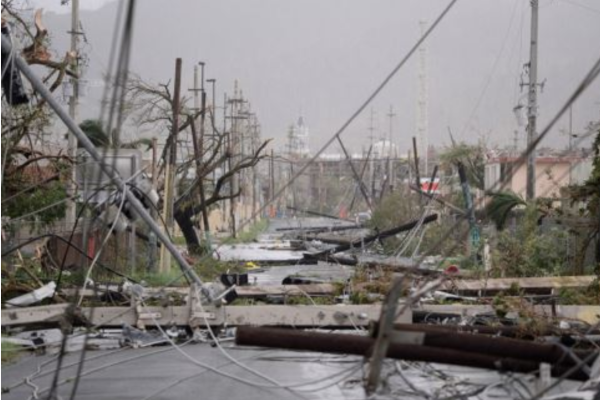
[[[273,383],[233,364],[217,348],[210,347],[208,344],[189,345],[182,350],[198,362],[208,364],[220,372],[228,373],[246,382],[236,381],[198,366],[173,347],[122,349],[112,352],[88,351],[76,398],[82,400],[358,400],[367,398],[362,389],[361,357],[256,348],[226,349],[241,363],[274,379],[280,385],[294,386],[294,391],[291,391],[273,388]],[[79,355],[76,353],[65,357],[64,365],[68,367],[62,370],[59,377],[61,384],[58,398],[70,397]],[[41,369],[38,369],[40,366]],[[37,388],[40,399],[46,399],[48,396],[46,389],[51,384],[55,370],[56,361],[50,356],[30,356],[18,364],[3,366],[3,388],[11,387],[32,376],[30,385],[21,385],[3,393],[4,399],[31,398],[34,388]],[[431,398],[456,395],[453,387],[461,392],[472,392],[477,387],[470,384],[491,386],[478,396],[465,397],[468,399],[519,398],[516,390],[518,389],[521,395],[525,395],[527,392],[524,387],[529,391],[526,397],[537,392],[536,378],[533,375],[517,374],[513,378],[511,375],[486,370],[422,363],[403,364],[403,370],[404,377],[411,381],[413,388],[428,392]],[[38,375],[34,376],[38,371]],[[384,371],[383,376],[388,377],[387,384],[371,400],[424,398],[422,395],[411,395],[413,388],[400,377],[392,361],[388,362]],[[517,385],[512,379],[518,379],[519,384]],[[462,381],[463,384],[454,386],[453,382],[458,381]],[[501,382],[505,382],[504,387],[492,385]],[[310,384],[298,386],[306,383]],[[575,390],[578,386],[579,383],[565,381],[552,393],[564,393]]]

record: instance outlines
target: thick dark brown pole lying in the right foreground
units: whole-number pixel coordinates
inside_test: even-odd
[[[245,346],[356,354],[368,357],[375,339],[358,335],[243,326],[237,329],[235,342]],[[396,360],[434,362],[495,371],[531,373],[539,370],[539,363],[534,361],[419,345],[418,337],[413,335],[394,337],[386,356]],[[554,366],[552,375],[561,376],[566,370],[563,365]],[[583,371],[579,371],[571,375],[570,379],[585,381],[589,377]]]

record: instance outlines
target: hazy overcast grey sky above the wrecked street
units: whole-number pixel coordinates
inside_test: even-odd
[[[40,0],[49,10],[46,24],[53,45],[66,50],[68,6]],[[104,7],[100,7],[106,3]],[[184,88],[191,86],[193,64],[207,63],[217,79],[218,97],[238,79],[252,102],[264,137],[283,145],[287,127],[300,113],[316,150],[367,98],[419,36],[419,20],[432,22],[447,0],[144,0],[137,2],[131,69],[153,82],[172,78],[174,59],[184,61]],[[82,24],[90,58],[87,78],[101,79],[117,2],[83,0]],[[528,0],[460,0],[427,43],[429,142],[447,143],[447,127],[468,142],[485,136],[490,144],[510,144],[519,129],[512,112],[529,52]],[[594,0],[541,0],[539,76],[540,122],[557,112],[600,56],[600,4]],[[416,57],[374,103],[376,135],[388,131],[390,105],[394,140],[410,146],[416,126]],[[598,119],[600,82],[574,107],[574,127]],[[85,116],[97,116],[92,89]],[[369,112],[344,134],[355,151],[368,143]],[[563,147],[560,128],[546,144]],[[520,128],[520,143],[525,134]],[[335,148],[330,151],[335,151]]]

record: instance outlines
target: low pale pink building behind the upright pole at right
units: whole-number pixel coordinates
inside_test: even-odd
[[[519,158],[498,156],[485,165],[485,190],[510,190],[525,198],[527,163],[515,167]],[[516,169],[515,169],[516,168]],[[592,159],[581,155],[540,156],[535,159],[536,197],[557,198],[560,189],[584,182],[591,173]]]

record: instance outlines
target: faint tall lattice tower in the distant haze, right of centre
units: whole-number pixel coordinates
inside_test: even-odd
[[[421,28],[421,35],[424,35],[427,31],[427,22],[419,21]],[[423,173],[428,173],[428,82],[427,82],[427,46],[425,42],[419,47],[419,58],[418,58],[418,90],[417,90],[417,146],[421,159],[423,160]]]

